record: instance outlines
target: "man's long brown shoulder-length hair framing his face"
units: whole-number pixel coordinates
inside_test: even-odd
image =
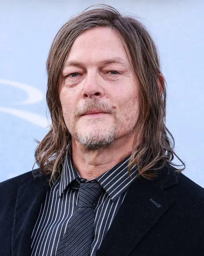
[[[107,5],[93,6],[66,22],[54,38],[49,51],[46,68],[48,84],[46,101],[50,111],[52,126],[37,145],[35,160],[41,172],[50,175],[50,183],[55,182],[63,166],[63,158],[72,153],[72,137],[66,128],[58,95],[60,73],[75,39],[85,30],[106,26],[118,33],[135,72],[139,90],[139,116],[136,122],[136,136],[129,160],[129,172],[133,165],[138,167],[138,176],[148,179],[155,177],[156,163],[172,163],[174,138],[167,129],[166,122],[166,82],[161,75],[158,51],[145,26],[135,17],[122,15]],[[159,86],[160,85],[160,86]],[[139,143],[138,143],[139,142]],[[135,152],[137,152],[135,154]]]

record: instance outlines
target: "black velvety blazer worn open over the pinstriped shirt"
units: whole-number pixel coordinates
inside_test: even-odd
[[[31,255],[46,180],[27,172],[0,183],[0,256]],[[170,165],[135,179],[96,256],[204,256],[204,189]]]

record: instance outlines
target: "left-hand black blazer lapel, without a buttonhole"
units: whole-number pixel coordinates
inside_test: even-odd
[[[31,236],[46,190],[46,175],[24,183],[18,189],[12,232],[12,256],[31,255]]]

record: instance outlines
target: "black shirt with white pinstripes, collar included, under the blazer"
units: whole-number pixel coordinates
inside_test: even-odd
[[[101,184],[104,192],[95,204],[94,236],[90,256],[95,256],[123,203],[130,183],[135,178],[136,166],[128,176],[128,160],[129,157],[126,157],[101,176],[92,179]],[[68,222],[78,208],[78,189],[69,186],[76,178],[80,176],[74,169],[71,157],[66,155],[62,174],[47,191],[46,199],[41,205],[32,233],[32,256],[56,255]]]

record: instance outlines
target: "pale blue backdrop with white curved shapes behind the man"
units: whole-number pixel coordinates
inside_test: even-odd
[[[0,181],[32,169],[46,134],[45,63],[56,32],[93,0],[0,1]],[[167,80],[167,128],[183,172],[204,187],[204,1],[101,1],[141,17]],[[174,161],[179,163],[178,160]]]

